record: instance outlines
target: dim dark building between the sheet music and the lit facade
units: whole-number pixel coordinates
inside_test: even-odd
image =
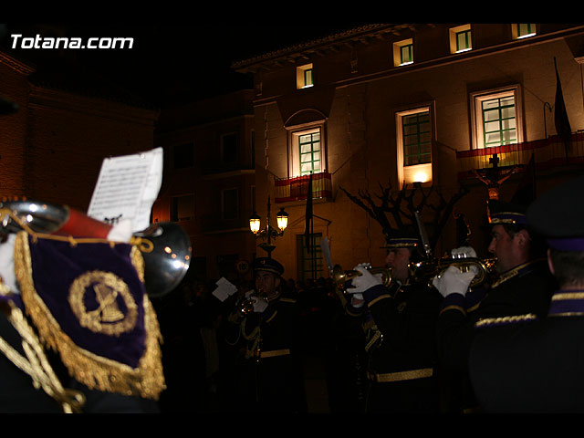
[[[155,141],[164,150],[164,177],[152,219],[178,222],[191,236],[194,281],[251,279],[253,97],[253,90],[241,90],[161,113]]]

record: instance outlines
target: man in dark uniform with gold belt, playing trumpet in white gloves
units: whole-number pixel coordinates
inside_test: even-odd
[[[388,239],[386,265],[391,284],[365,266],[350,280],[348,314],[367,333],[365,412],[440,412],[435,325],[442,297],[427,284],[413,282],[409,266],[421,258],[420,241],[401,233]]]

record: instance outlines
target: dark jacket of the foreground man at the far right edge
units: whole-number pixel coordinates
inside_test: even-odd
[[[584,291],[554,294],[547,318],[477,331],[470,377],[485,412],[584,412]]]

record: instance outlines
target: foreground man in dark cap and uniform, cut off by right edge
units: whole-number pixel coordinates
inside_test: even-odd
[[[470,377],[485,412],[584,411],[584,177],[543,193],[527,221],[547,238],[558,280],[547,316],[485,321],[470,354]],[[528,292],[528,291],[526,291]]]

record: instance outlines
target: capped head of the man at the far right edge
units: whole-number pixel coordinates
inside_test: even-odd
[[[527,221],[546,237],[549,269],[559,287],[584,287],[584,192],[580,176],[543,193],[527,209]]]

